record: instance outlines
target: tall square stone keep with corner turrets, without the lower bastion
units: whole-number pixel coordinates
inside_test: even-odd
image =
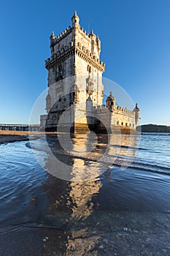
[[[87,127],[87,102],[102,105],[104,86],[100,61],[101,41],[91,30],[80,27],[77,12],[72,26],[50,37],[51,56],[45,61],[48,70],[47,115],[41,116],[41,127],[56,131],[61,118],[63,127]],[[64,114],[64,112],[66,112]]]

